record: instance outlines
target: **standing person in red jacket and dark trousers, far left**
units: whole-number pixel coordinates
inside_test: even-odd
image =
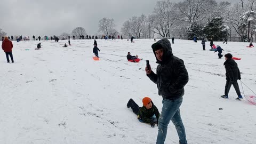
[[[4,52],[6,54],[6,59],[7,59],[8,63],[10,62],[9,55],[11,57],[12,63],[14,62],[13,57],[12,57],[12,47],[13,47],[12,41],[10,41],[8,39],[8,37],[4,37],[4,41],[2,43],[2,49],[4,50]]]

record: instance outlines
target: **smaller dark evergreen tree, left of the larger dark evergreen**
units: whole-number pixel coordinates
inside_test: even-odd
[[[192,22],[188,27],[187,36],[189,39],[193,39],[194,36],[201,38],[203,36],[203,26],[199,22]]]

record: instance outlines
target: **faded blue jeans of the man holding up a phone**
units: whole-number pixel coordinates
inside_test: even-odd
[[[180,144],[187,144],[185,127],[180,117],[180,105],[182,103],[182,97],[178,99],[163,99],[162,113],[158,119],[158,135],[156,144],[164,144],[167,126],[172,120],[175,125],[177,133],[180,138]]]

